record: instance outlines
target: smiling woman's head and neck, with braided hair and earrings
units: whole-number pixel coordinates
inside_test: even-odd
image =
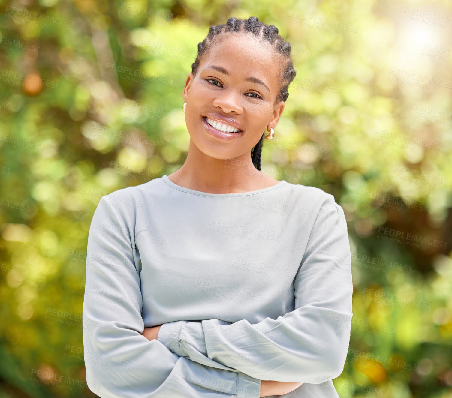
[[[264,131],[273,137],[295,75],[290,44],[275,26],[255,17],[212,26],[198,43],[183,91],[191,138],[188,157],[170,177],[185,187],[213,187],[214,192],[222,192],[221,185],[250,190],[276,183],[259,173]],[[241,167],[218,167],[231,159]],[[212,162],[216,166],[200,176],[199,164]],[[202,178],[191,178],[192,169]]]

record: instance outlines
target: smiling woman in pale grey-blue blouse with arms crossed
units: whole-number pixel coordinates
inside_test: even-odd
[[[83,341],[100,397],[339,397],[353,315],[344,211],[260,171],[290,50],[256,17],[212,26],[183,91],[184,165],[99,201]]]

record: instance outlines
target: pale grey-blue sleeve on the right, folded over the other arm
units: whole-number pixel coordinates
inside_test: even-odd
[[[179,356],[261,380],[320,384],[338,377],[350,339],[353,283],[344,211],[330,194],[312,226],[294,293],[295,309],[277,319],[175,321],[162,325],[158,340]]]

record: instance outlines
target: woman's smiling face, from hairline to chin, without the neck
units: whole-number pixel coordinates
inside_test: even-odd
[[[277,60],[269,43],[237,34],[221,37],[204,54],[183,91],[188,132],[201,152],[216,159],[250,156],[267,127],[278,124],[284,102],[275,104],[282,72]],[[241,131],[218,131],[206,117]]]

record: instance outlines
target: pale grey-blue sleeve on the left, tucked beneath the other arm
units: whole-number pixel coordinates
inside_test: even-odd
[[[117,205],[102,197],[88,234],[82,324],[89,388],[103,398],[259,397],[260,380],[177,356],[141,335],[133,230]]]

